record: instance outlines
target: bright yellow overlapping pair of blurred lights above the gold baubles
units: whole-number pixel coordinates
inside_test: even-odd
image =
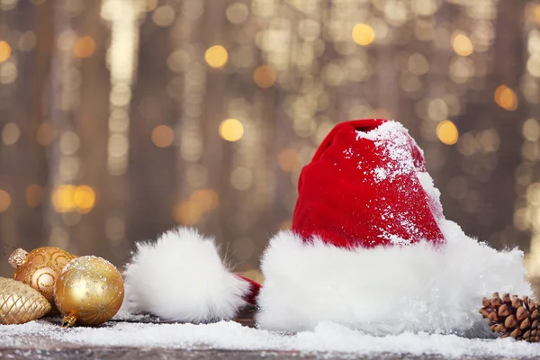
[[[87,213],[94,209],[95,192],[87,185],[58,185],[52,192],[52,204],[58,212],[79,211]]]

